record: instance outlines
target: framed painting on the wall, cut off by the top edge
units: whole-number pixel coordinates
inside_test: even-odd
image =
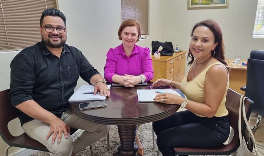
[[[228,8],[229,0],[187,0],[187,10]]]

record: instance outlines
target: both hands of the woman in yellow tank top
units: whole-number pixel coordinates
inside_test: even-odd
[[[167,79],[158,79],[156,80],[152,86],[167,86],[171,85],[172,81]],[[172,93],[161,93],[156,95],[156,97],[153,99],[154,102],[160,102],[164,104],[177,104],[180,105],[181,101],[183,101],[184,98],[181,96],[172,94]]]

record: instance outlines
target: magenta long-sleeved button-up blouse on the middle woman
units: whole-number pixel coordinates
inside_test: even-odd
[[[153,79],[152,59],[149,55],[149,49],[137,46],[135,44],[129,57],[126,56],[123,44],[110,48],[106,54],[107,59],[104,67],[104,78],[113,83],[112,77],[117,74],[139,76],[143,74],[146,81]]]

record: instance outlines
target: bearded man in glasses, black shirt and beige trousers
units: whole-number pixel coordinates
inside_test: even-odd
[[[45,145],[51,155],[75,155],[110,130],[108,125],[89,122],[71,112],[68,100],[79,76],[95,85],[95,94],[99,91],[110,96],[110,92],[82,52],[65,44],[66,17],[62,12],[44,10],[39,31],[42,41],[23,49],[10,64],[9,97],[28,136]],[[84,130],[74,143],[70,128]]]

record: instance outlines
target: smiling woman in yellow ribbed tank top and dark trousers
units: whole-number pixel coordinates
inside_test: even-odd
[[[181,89],[187,97],[164,93],[154,98],[155,102],[187,109],[153,123],[157,145],[164,156],[174,155],[175,146],[217,147],[229,136],[225,107],[229,76],[221,29],[216,22],[205,20],[193,27],[191,37],[190,69],[182,83],[167,79],[153,83]]]

